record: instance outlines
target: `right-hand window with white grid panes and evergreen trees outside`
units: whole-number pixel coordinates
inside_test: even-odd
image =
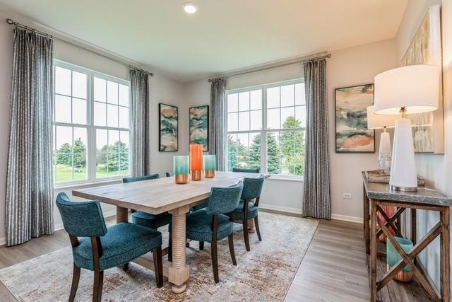
[[[304,83],[227,91],[227,167],[304,175]]]

